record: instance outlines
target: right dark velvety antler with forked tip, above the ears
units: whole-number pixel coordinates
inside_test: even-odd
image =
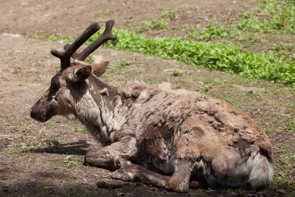
[[[116,40],[117,36],[112,34],[112,29],[114,27],[115,21],[113,19],[106,22],[105,31],[93,41],[88,47],[86,47],[81,53],[74,53],[73,58],[77,60],[84,61],[93,51],[100,47],[107,40]],[[64,45],[64,48],[67,49],[69,45]]]

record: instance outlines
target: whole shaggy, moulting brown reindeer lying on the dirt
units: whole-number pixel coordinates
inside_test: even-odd
[[[57,114],[80,120],[106,145],[89,150],[85,164],[116,170],[115,179],[179,193],[200,184],[265,186],[273,175],[272,147],[241,110],[170,83],[135,81],[117,90],[99,80],[108,62],[83,61],[106,40],[117,39],[113,26],[114,20],[107,21],[104,33],[81,53],[75,51],[100,29],[97,23],[66,44],[64,52],[51,50],[61,69],[30,116],[40,122]]]

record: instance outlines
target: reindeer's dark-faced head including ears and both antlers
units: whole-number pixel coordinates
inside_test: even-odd
[[[47,92],[32,106],[31,118],[45,122],[57,114],[67,116],[74,113],[71,111],[73,110],[71,101],[79,99],[74,97],[82,97],[89,88],[90,78],[97,79],[106,71],[109,64],[105,62],[98,65],[87,65],[83,61],[105,41],[117,39],[117,36],[112,34],[114,24],[114,20],[107,21],[102,35],[81,53],[76,51],[91,35],[100,30],[100,26],[96,22],[91,23],[72,44],[65,44],[63,47],[65,51],[51,49],[51,54],[60,59],[61,69],[52,77]],[[71,57],[74,59],[72,62]]]

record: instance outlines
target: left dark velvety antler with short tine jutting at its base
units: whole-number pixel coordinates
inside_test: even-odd
[[[64,46],[65,51],[60,52],[57,49],[51,49],[51,54],[60,59],[61,69],[70,66],[71,56],[98,30],[100,30],[100,26],[97,22],[93,22],[72,44],[66,44]]]

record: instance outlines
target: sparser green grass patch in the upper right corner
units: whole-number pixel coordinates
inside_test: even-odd
[[[229,25],[212,24],[201,31],[195,27],[186,27],[187,33],[192,39],[200,41],[239,35],[236,38],[242,42],[265,42],[257,33],[295,33],[294,0],[259,0],[259,3],[256,13],[241,13]]]

